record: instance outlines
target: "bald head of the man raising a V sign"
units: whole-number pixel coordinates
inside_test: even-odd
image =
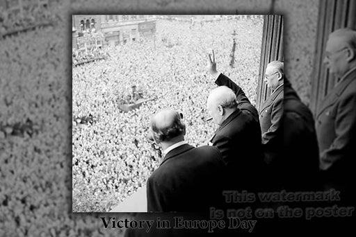
[[[213,121],[221,125],[237,110],[237,100],[234,91],[225,86],[213,89],[207,100],[207,109]]]

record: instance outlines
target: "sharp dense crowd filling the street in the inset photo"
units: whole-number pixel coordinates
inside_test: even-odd
[[[261,18],[195,24],[157,20],[156,35],[106,49],[106,60],[73,67],[73,211],[108,211],[144,186],[159,166],[146,140],[149,117],[163,108],[184,114],[186,141],[201,146],[216,125],[206,101],[215,88],[207,72],[214,49],[218,70],[240,85],[254,104],[261,51]],[[232,35],[236,30],[236,35]],[[231,64],[233,37],[236,39]],[[136,85],[154,100],[122,112],[118,105]]]

